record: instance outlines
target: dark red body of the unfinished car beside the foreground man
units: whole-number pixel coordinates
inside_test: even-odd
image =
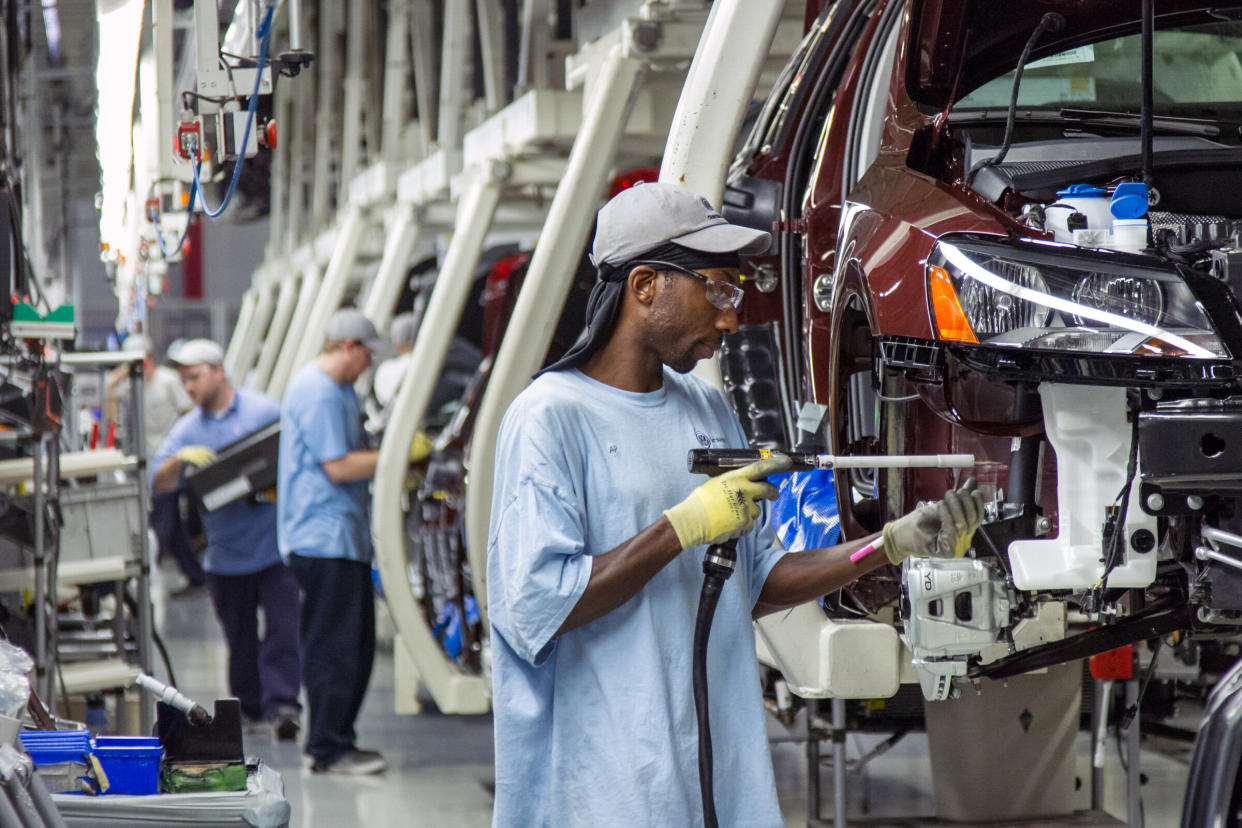
[[[775,269],[776,289],[765,293],[759,289],[763,279],[751,279],[743,323],[780,329],[786,394],[827,407],[823,449],[970,452],[977,459],[974,472],[989,492],[1010,488],[1011,441],[1041,432],[1038,403],[1033,408],[1020,403],[1015,382],[1004,371],[979,370],[963,359],[956,344],[939,340],[925,266],[945,233],[1052,236],[1017,221],[1026,201],[1020,194],[992,201],[965,184],[961,153],[946,123],[949,107],[959,88],[977,87],[1012,70],[1045,12],[1062,12],[1067,22],[1038,42],[1032,58],[1099,41],[1109,32],[1136,31],[1139,10],[1136,0],[853,0],[831,4],[809,25],[804,48],[734,163],[725,215],[779,231],[777,250],[748,262],[751,272]],[[1201,4],[1160,4],[1158,25],[1177,25],[1195,15],[1203,15]],[[897,42],[891,71],[877,57],[886,36]],[[878,77],[882,73],[888,73],[887,83]],[[877,86],[887,88],[878,148],[866,169],[851,171],[862,129],[859,112]],[[816,297],[823,286],[831,290],[828,302]],[[884,402],[878,431],[887,437],[851,444],[850,375],[873,369],[877,356],[923,346],[934,349],[934,365],[925,371],[905,366],[887,377],[902,386],[894,396],[917,394],[919,400]],[[1047,365],[1059,370],[1056,360]],[[1221,376],[1218,389],[1232,387],[1232,370]],[[1054,464],[1049,451],[1036,493],[1053,533]],[[859,510],[848,477],[838,477],[838,502],[850,504],[841,508],[847,538],[938,498],[953,480],[943,470],[879,478],[878,503]]]

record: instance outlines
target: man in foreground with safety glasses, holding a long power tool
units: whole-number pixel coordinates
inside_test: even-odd
[[[600,271],[579,343],[509,406],[488,536],[497,826],[700,826],[692,629],[703,547],[738,539],[707,653],[722,826],[784,826],[753,617],[908,555],[961,554],[971,484],[876,536],[786,552],[768,459],[704,479],[691,448],[745,447],[724,395],[688,371],[738,329],[739,251],[684,187],[643,184],[599,212]]]

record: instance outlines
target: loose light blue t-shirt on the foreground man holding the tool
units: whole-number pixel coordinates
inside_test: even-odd
[[[705,479],[687,452],[744,447],[724,396],[664,371],[650,394],[544,374],[509,406],[496,456],[487,592],[493,631],[496,826],[698,826],[691,690],[702,546],[612,612],[554,638],[606,552]],[[738,544],[708,646],[722,826],[782,826],[750,613],[784,551]]]

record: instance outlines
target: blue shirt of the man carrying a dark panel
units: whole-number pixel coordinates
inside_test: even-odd
[[[152,468],[173,457],[186,446],[206,446],[219,451],[246,434],[276,421],[281,410],[271,397],[233,389],[229,407],[219,415],[201,407],[186,412],[159,444]],[[250,575],[279,562],[276,549],[276,505],[247,504],[233,500],[215,511],[202,510],[202,526],[207,533],[207,551],[202,569],[214,575]]]

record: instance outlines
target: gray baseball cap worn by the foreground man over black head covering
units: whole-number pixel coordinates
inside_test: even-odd
[[[625,264],[674,242],[704,253],[754,254],[771,233],[730,225],[703,196],[673,184],[636,184],[600,209],[591,263]]]

